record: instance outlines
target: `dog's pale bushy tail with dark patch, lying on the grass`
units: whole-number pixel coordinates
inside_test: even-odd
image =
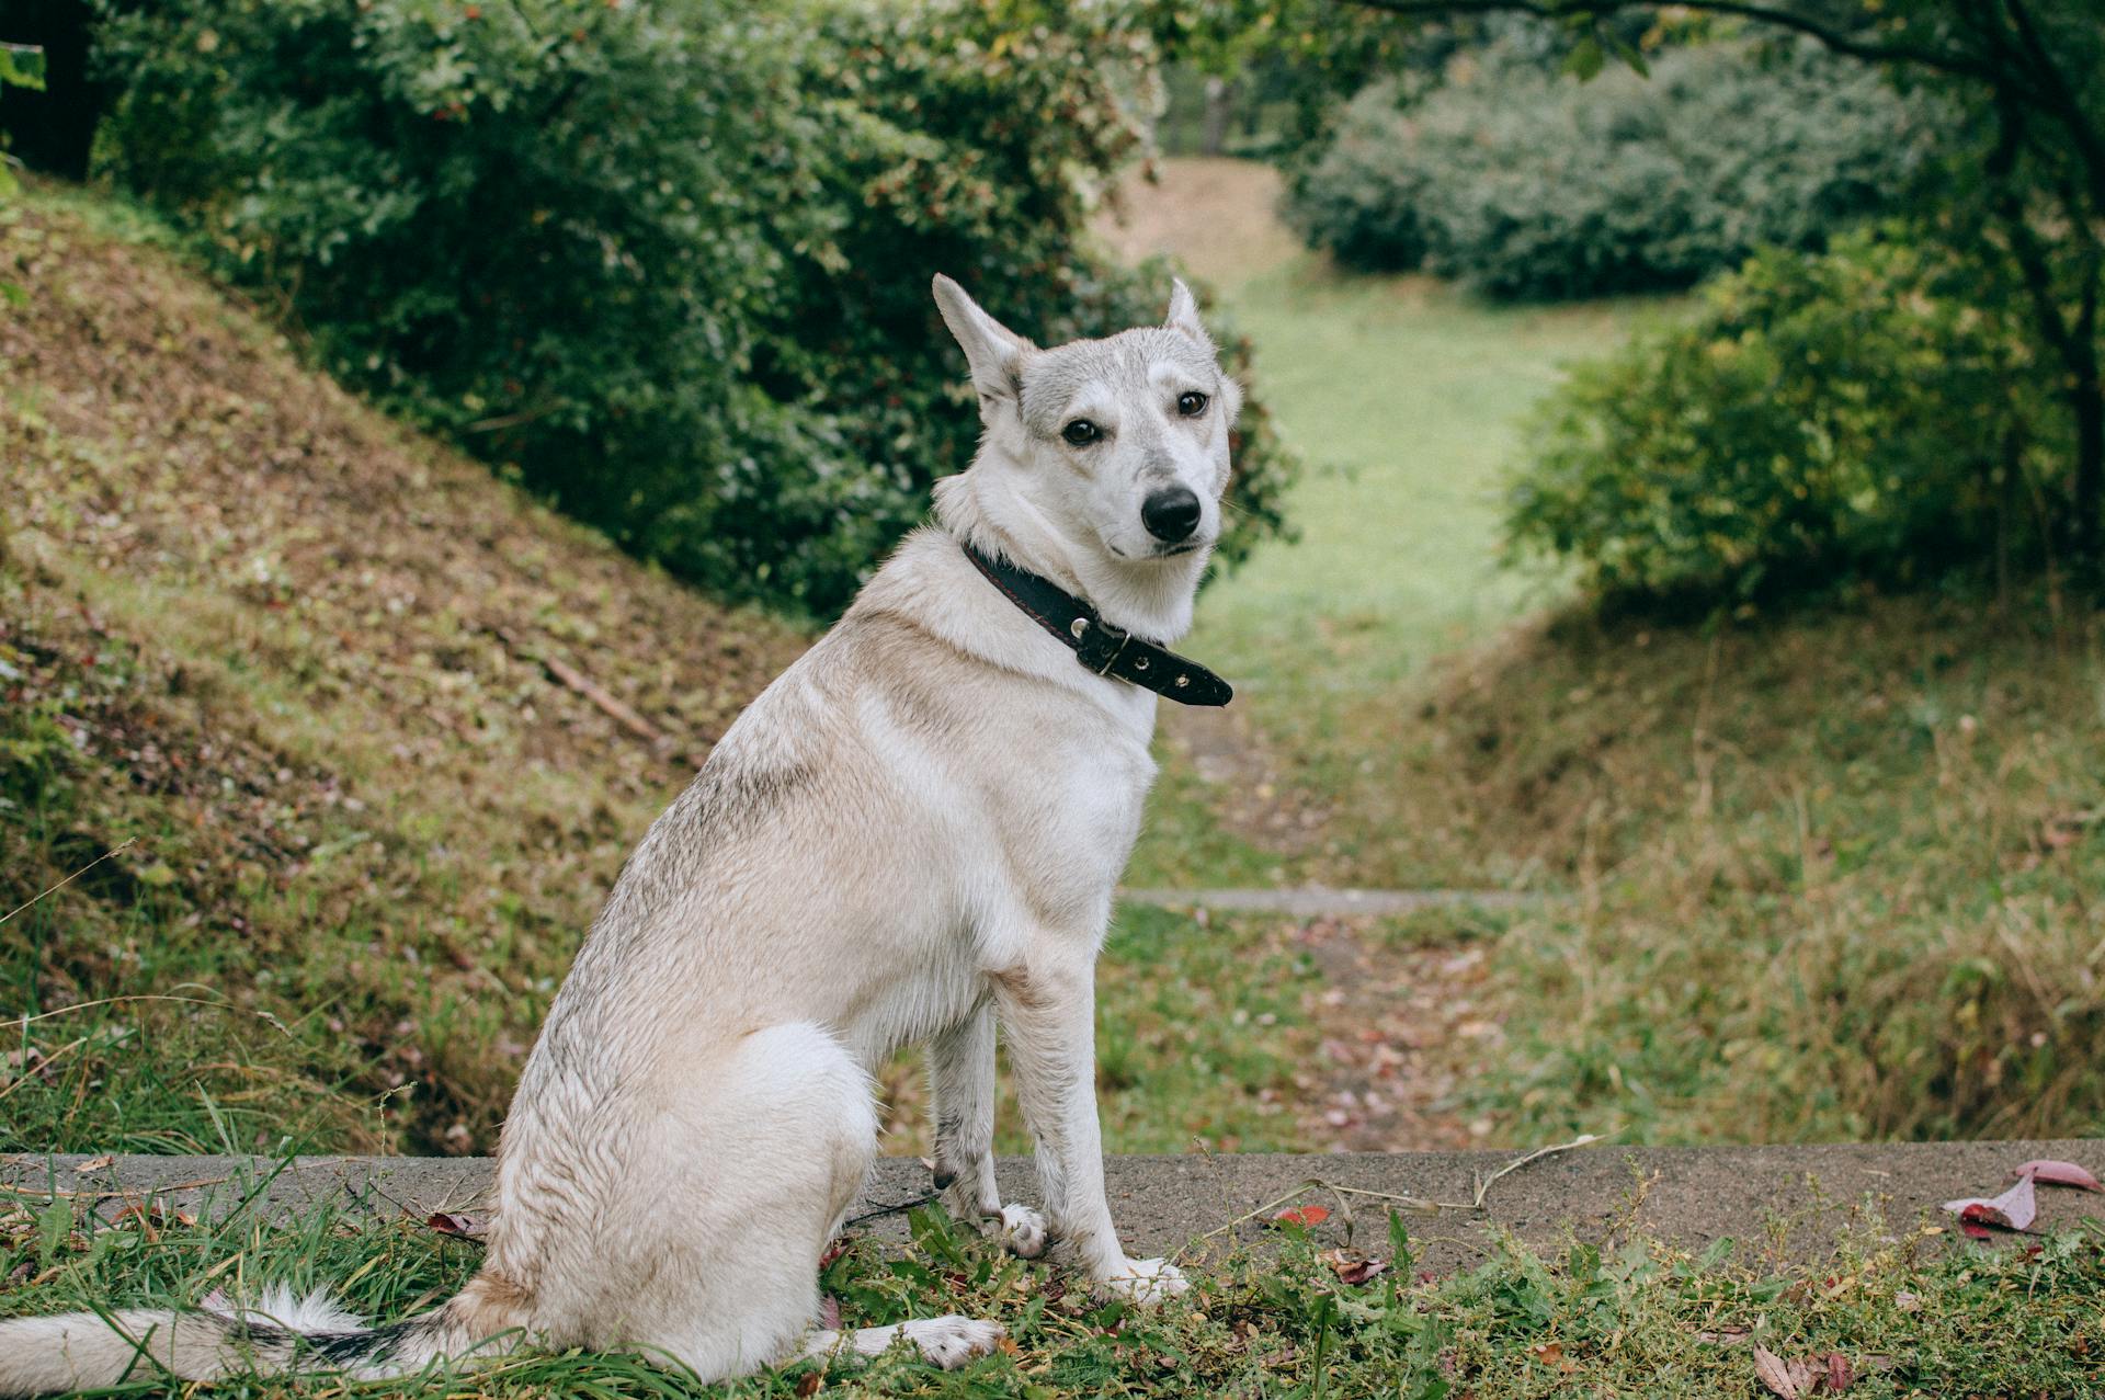
[[[482,1360],[524,1343],[520,1288],[495,1274],[469,1280],[434,1312],[366,1326],[326,1293],[295,1299],[272,1288],[257,1307],[229,1307],[217,1293],[198,1312],[69,1312],[0,1322],[0,1396],[44,1396],[177,1377],[341,1371],[383,1379],[434,1360]]]

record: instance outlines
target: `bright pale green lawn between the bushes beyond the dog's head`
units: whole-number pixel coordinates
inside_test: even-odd
[[[1299,543],[1215,583],[1191,646],[1255,680],[1267,718],[1394,686],[1520,615],[1532,585],[1499,568],[1520,417],[1570,360],[1678,305],[1497,307],[1316,257],[1225,297],[1307,472],[1288,499]]]

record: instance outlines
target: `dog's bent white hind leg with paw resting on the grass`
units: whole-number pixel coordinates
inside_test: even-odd
[[[817,1025],[754,1032],[709,1063],[667,1065],[655,1139],[615,1234],[632,1288],[608,1326],[701,1379],[794,1358],[819,1320],[819,1257],[878,1152],[869,1076]],[[657,1242],[655,1248],[648,1242]],[[983,1356],[1002,1328],[930,1318],[901,1328],[930,1362]],[[878,1349],[893,1335],[855,1337]],[[819,1347],[840,1339],[821,1333]]]

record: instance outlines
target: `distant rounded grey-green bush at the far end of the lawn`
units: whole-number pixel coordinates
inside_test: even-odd
[[[1356,267],[1497,297],[1680,288],[1890,208],[1928,156],[1926,114],[1812,46],[1682,48],[1650,78],[1585,84],[1492,51],[1423,101],[1356,97],[1288,215]]]

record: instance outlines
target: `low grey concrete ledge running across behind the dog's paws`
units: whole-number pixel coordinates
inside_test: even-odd
[[[1160,1156],[1111,1158],[1111,1213],[1126,1246],[1175,1253],[1236,1217],[1322,1181],[1444,1202],[1467,1202],[1478,1177],[1511,1162],[1511,1152],[1417,1152],[1383,1156]],[[1939,1204],[1958,1196],[1993,1196],[2006,1173],[2031,1158],[2063,1158],[2105,1175],[2105,1139],[2002,1143],[1867,1143],[1817,1147],[1617,1147],[1593,1145],[1530,1162],[1501,1177],[1482,1215],[1467,1211],[1406,1213],[1423,1263],[1465,1267],[1484,1257],[1492,1234],[1509,1229],[1553,1248],[1566,1234],[1602,1238],[1625,1217],[1644,1234],[1701,1246],[1735,1236],[1747,1246],[1781,1234],[1777,1248],[1798,1257],[1825,1253],[1836,1229],[1857,1215],[1865,1223],[1905,1229],[1920,1219],[1949,1223]],[[80,1171],[84,1164],[91,1171]],[[1004,1158],[1000,1179],[1008,1200],[1036,1200],[1025,1158]],[[1648,1183],[1642,1185],[1640,1183]],[[160,1200],[164,1208],[269,1217],[320,1204],[352,1206],[373,1217],[425,1217],[434,1211],[488,1208],[488,1158],[84,1158],[0,1156],[4,1196],[36,1204],[51,1192],[93,1202],[103,1215],[124,1204]],[[648,1181],[636,1183],[650,1192]],[[861,1208],[911,1200],[928,1189],[928,1168],[911,1158],[884,1158],[871,1173]],[[1326,1192],[1307,1196],[1337,1211]],[[1360,1211],[1360,1242],[1385,1248],[1385,1202],[1347,1198]],[[2040,1229],[2105,1217],[2105,1196],[2040,1189]],[[1335,1215],[1326,1234],[1343,1225]],[[903,1234],[899,1215],[859,1229]],[[1242,1238],[1261,1238],[1242,1225]],[[1951,1236],[1956,1238],[1956,1234]]]

